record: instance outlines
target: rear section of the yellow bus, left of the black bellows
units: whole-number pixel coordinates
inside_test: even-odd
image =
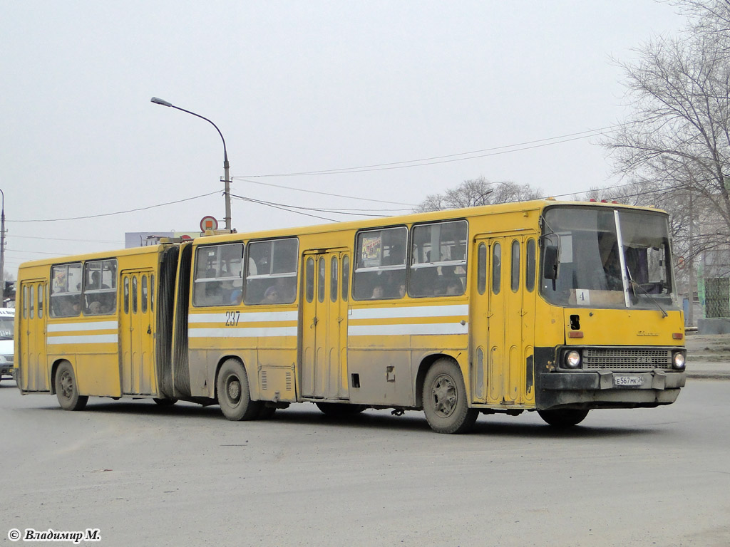
[[[166,399],[172,296],[164,287],[176,252],[143,247],[21,265],[15,355],[23,395],[55,394],[69,410],[89,396]]]

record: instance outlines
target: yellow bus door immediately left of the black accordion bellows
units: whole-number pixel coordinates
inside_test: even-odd
[[[119,314],[122,354],[122,393],[155,395],[152,270],[123,271]]]

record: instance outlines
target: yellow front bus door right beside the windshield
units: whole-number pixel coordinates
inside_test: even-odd
[[[472,302],[477,306],[472,306],[470,329],[474,400],[506,406],[530,403],[535,238],[515,234],[477,238],[475,244]]]

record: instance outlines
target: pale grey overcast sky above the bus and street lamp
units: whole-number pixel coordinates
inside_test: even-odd
[[[0,7],[12,276],[26,260],[122,248],[126,232],[198,230],[207,214],[223,225],[220,136],[152,96],[218,125],[231,193],[258,201],[399,214],[478,176],[568,198],[619,184],[585,138],[630,112],[611,58],[684,23],[653,0]],[[334,169],[356,172],[283,176]],[[239,199],[232,217],[239,232],[328,222]]]

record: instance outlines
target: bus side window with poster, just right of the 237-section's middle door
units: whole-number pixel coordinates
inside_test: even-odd
[[[406,283],[407,236],[404,226],[358,233],[353,298],[400,298]]]

